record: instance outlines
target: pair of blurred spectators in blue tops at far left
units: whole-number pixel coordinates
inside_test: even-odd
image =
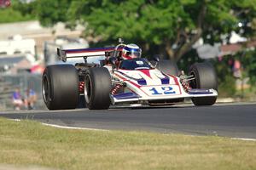
[[[13,105],[15,110],[32,110],[37,101],[37,94],[32,88],[26,89],[25,95],[20,94],[20,88],[15,88],[12,96]]]

